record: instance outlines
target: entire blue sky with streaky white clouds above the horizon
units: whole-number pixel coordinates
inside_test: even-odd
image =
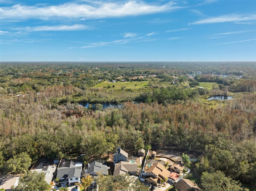
[[[256,61],[256,1],[0,0],[0,61]]]

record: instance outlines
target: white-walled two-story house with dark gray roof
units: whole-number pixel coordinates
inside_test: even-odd
[[[68,181],[69,185],[74,185],[75,183],[80,183],[81,173],[82,163],[62,160],[57,170],[57,178]]]

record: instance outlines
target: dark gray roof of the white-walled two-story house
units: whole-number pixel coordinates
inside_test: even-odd
[[[61,167],[57,171],[57,177],[58,179],[72,178],[72,177],[80,178],[81,170],[82,170],[82,167],[76,167],[76,168]]]

